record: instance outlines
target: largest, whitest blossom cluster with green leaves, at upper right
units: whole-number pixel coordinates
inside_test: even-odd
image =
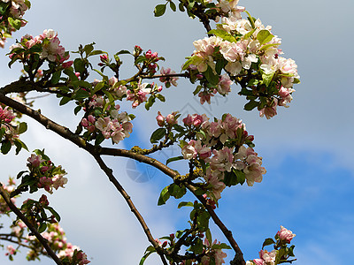
[[[280,56],[281,39],[272,34],[272,27],[265,27],[260,19],[242,19],[240,13],[244,8],[237,4],[236,0],[219,1],[220,24],[210,32],[213,36],[193,42],[195,51],[183,69],[199,72],[194,74],[201,81],[201,103],[210,103],[216,93],[227,95],[232,84],[229,76],[242,84],[241,95],[249,96],[253,106],[245,109],[258,107],[261,117],[270,118],[277,114],[277,106],[291,102],[295,91],[292,87],[299,82],[297,65]],[[221,75],[222,69],[227,75]],[[245,82],[241,83],[238,77]]]

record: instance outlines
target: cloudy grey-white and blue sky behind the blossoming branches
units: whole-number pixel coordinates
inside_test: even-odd
[[[135,4],[103,0],[97,6],[96,1],[37,0],[27,12],[27,27],[16,37],[41,34],[43,29],[53,28],[69,50],[76,49],[80,43],[96,42],[97,49],[114,53],[119,49],[133,49],[138,44],[143,49],[158,51],[166,58],[165,66],[178,71],[184,57],[194,49],[192,42],[205,36],[204,29],[196,20],[172,11],[167,11],[162,18],[153,18],[154,6],[163,3],[163,0],[136,0]],[[282,38],[284,57],[291,57],[298,64],[302,83],[295,87],[290,108],[280,109],[279,115],[271,120],[258,117],[255,111],[245,112],[244,99],[236,95],[238,87],[233,88],[235,95],[227,100],[218,98],[211,107],[201,107],[192,97],[194,87],[180,80],[179,87],[165,92],[171,102],[157,105],[150,112],[136,110],[141,118],[135,121],[136,134],[126,145],[148,144],[150,135],[146,132],[156,128],[154,118],[158,110],[165,114],[173,110],[207,112],[216,117],[229,112],[242,118],[249,133],[255,135],[256,151],[263,156],[267,173],[261,184],[238,186],[224,192],[218,212],[232,229],[245,257],[256,258],[263,239],[273,237],[280,225],[284,225],[296,233],[298,264],[347,263],[354,247],[350,238],[354,232],[354,119],[351,115],[354,3],[350,0],[335,3],[240,0],[239,4],[264,24],[273,26],[273,34]],[[7,47],[0,51],[2,56]],[[5,57],[2,62],[0,86],[19,76],[16,65],[10,71]],[[131,74],[128,64],[122,68],[122,74]],[[78,119],[67,118],[72,110],[57,106],[56,99],[45,98],[38,101],[36,108],[74,127]],[[41,126],[29,125],[24,135],[29,148],[46,148],[50,158],[69,172],[65,190],[50,196],[50,203],[61,213],[68,240],[93,257],[92,264],[112,261],[137,264],[148,241],[93,159]],[[177,149],[170,150],[166,155],[177,152]],[[0,179],[23,170],[26,158],[25,153],[16,158],[2,157],[0,166],[6,170],[2,170]],[[176,201],[156,206],[158,193],[169,184],[169,178],[139,165],[138,169],[148,175],[149,181],[138,183],[131,178],[131,164],[127,165],[126,159],[109,158],[107,162],[135,198],[154,236],[164,236],[184,227],[185,212],[176,210]],[[218,231],[215,235],[223,240]],[[0,254],[1,264],[24,263],[21,257],[16,260],[7,261]],[[156,261],[151,257],[147,264]]]

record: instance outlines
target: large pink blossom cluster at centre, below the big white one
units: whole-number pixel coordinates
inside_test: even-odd
[[[171,131],[177,126],[178,117],[177,112],[166,117],[158,112],[156,118],[160,127]],[[244,180],[253,186],[262,181],[266,169],[261,166],[262,157],[252,148],[254,137],[248,134],[242,120],[227,113],[211,122],[205,114],[194,114],[182,122],[184,126],[176,127],[181,133],[181,154],[196,167],[204,168],[203,178],[211,186],[214,201],[219,200],[226,186],[242,184]]]

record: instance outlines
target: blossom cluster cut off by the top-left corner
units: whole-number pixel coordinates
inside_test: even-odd
[[[20,27],[26,26],[23,16],[31,4],[28,0],[1,0],[0,3],[0,48],[4,48],[6,38],[11,37],[12,32]]]

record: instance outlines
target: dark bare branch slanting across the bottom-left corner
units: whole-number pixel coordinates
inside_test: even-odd
[[[22,220],[23,223],[27,225],[27,228],[34,233],[35,237],[38,239],[39,242],[41,242],[42,246],[45,248],[47,253],[50,255],[50,257],[55,261],[58,265],[63,265],[63,263],[59,260],[58,256],[53,252],[53,250],[50,248],[50,246],[47,243],[47,239],[44,239],[42,235],[35,229],[35,226],[32,225],[27,219],[26,216],[24,216],[19,208],[17,208],[11,201],[9,194],[4,190],[3,185],[0,183],[0,195],[4,198],[4,201],[6,204],[9,206],[9,208],[12,209],[13,213],[16,216],[19,216],[19,219]]]

